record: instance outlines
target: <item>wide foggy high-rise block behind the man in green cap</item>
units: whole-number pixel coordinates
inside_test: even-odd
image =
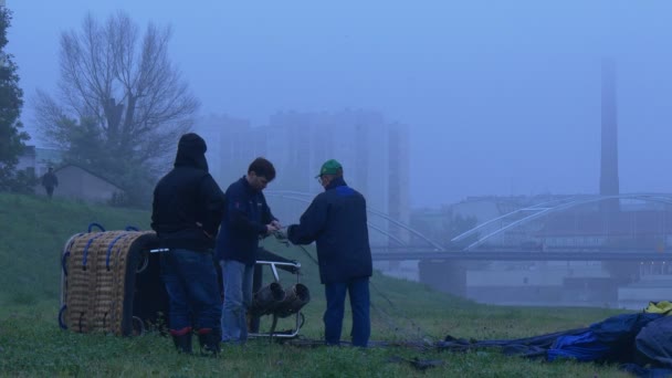
[[[371,244],[390,243],[386,233],[408,239],[406,232],[377,212],[409,222],[408,128],[366,111],[338,113],[280,113],[271,117],[269,158],[279,168],[273,189],[309,191],[322,187],[315,179],[319,166],[337,159],[348,185],[359,190],[374,211],[369,213]],[[293,206],[292,219],[304,207]],[[301,210],[297,212],[296,210]]]

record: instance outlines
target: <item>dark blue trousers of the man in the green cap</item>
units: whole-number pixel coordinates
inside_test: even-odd
[[[327,309],[323,317],[325,342],[327,345],[340,344],[346,293],[350,296],[350,308],[353,311],[353,329],[350,332],[353,345],[366,347],[371,334],[368,277],[354,279],[345,283],[325,284],[327,298]]]

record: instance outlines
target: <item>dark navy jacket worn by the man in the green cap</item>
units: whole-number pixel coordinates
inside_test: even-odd
[[[315,197],[287,237],[294,244],[316,242],[323,284],[371,276],[366,200],[342,177]]]

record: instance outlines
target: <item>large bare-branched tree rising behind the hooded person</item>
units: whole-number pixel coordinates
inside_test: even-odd
[[[34,102],[48,141],[73,148],[73,123],[93,124],[106,149],[98,154],[156,174],[199,102],[168,56],[170,28],[149,23],[140,34],[125,12],[104,24],[87,14],[80,31],[61,34],[57,95],[38,91]]]

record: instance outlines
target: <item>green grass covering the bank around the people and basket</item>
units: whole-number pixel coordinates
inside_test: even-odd
[[[298,348],[251,340],[227,347],[218,358],[181,356],[171,342],[148,333],[138,337],[76,334],[59,328],[60,255],[66,240],[91,222],[107,230],[128,224],[147,229],[145,211],[0,193],[0,376],[297,376],[297,377],[627,377],[613,366],[505,357],[496,349],[441,353],[387,347]],[[301,335],[322,338],[324,291],[317,267],[297,248],[272,240],[265,246],[302,263],[302,283],[312,294]],[[314,252],[311,250],[311,253]],[[266,273],[267,274],[267,273]],[[281,273],[288,286],[296,277]],[[387,300],[389,298],[388,302]],[[516,338],[582,327],[618,312],[600,308],[486,306],[429,287],[385,277],[371,279],[372,340],[437,342],[452,335],[473,339]],[[262,327],[269,327],[265,318]],[[284,319],[279,328],[291,327]],[[346,314],[344,339],[349,330]],[[424,372],[403,359],[433,359]]]

